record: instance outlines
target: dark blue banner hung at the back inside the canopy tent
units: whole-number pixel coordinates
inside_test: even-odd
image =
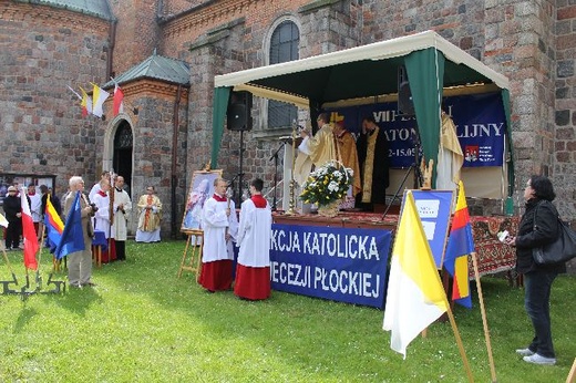
[[[456,125],[464,154],[464,167],[502,166],[506,116],[501,94],[445,97],[444,104],[446,113]],[[354,136],[360,133],[362,118],[372,115],[388,138],[390,167],[405,168],[414,162],[414,149],[418,147],[416,122],[414,116],[398,114],[397,105],[395,102],[390,102],[328,111],[343,117],[346,128]]]

